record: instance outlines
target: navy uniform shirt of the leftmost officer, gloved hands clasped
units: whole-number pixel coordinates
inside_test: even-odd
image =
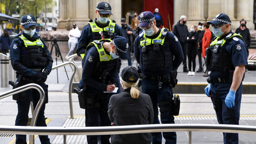
[[[19,35],[17,35],[17,36],[19,36]],[[29,41],[36,41],[39,38],[36,33],[33,35],[32,38],[30,36],[28,36],[27,34],[25,34],[24,32],[22,32],[22,35],[25,36]],[[41,39],[41,41],[44,44],[44,52],[45,52],[47,47],[46,47],[46,45],[44,43],[44,40]],[[15,38],[12,41],[12,43],[10,45],[10,56],[11,56],[12,67],[13,67],[13,69],[15,71],[17,71],[21,75],[33,79],[33,78],[35,78],[37,72],[32,70],[32,69],[29,69],[29,68],[23,66],[20,63],[20,49],[23,46],[24,46],[23,40],[21,40],[21,39]],[[49,58],[48,58],[48,63],[47,63],[47,66],[46,66],[45,69],[47,69],[48,72],[51,72],[53,60],[52,60],[52,56],[51,56],[51,54],[50,54],[48,49],[47,49],[47,53],[49,55]],[[25,54],[25,52],[24,52],[24,54]]]

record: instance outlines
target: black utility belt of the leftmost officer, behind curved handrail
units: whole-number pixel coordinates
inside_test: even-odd
[[[16,88],[21,86],[20,81],[14,83],[12,80],[10,80],[9,84],[12,85],[12,89],[16,89]],[[48,85],[47,84],[45,84],[45,90],[46,91],[44,93],[45,94],[44,102],[48,103]],[[33,97],[32,96],[31,97],[27,96],[27,91],[34,92],[35,90],[34,89],[29,89],[29,90],[26,90],[26,91],[14,94],[14,95],[12,95],[12,99],[13,100],[28,100],[28,101],[32,101]]]

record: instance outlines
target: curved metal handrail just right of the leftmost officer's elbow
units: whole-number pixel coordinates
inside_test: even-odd
[[[74,71],[73,71],[73,74],[72,74],[72,76],[70,78],[69,86],[68,86],[68,100],[69,100],[70,118],[74,118],[73,105],[72,105],[72,95],[71,95],[72,90],[71,90],[71,88],[72,88],[72,85],[73,85],[73,79],[74,79],[75,74],[76,74],[77,66],[73,62],[67,61],[67,62],[61,63],[61,64],[59,64],[57,66],[52,67],[52,70],[60,68],[60,67],[64,67],[66,65],[73,65],[74,66]]]

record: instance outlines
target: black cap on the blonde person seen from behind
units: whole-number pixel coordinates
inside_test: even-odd
[[[131,77],[134,80],[129,80]],[[127,66],[122,70],[121,78],[125,82],[136,83],[139,80],[139,74],[135,67]]]

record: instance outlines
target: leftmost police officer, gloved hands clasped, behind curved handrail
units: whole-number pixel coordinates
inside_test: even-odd
[[[36,32],[36,19],[32,15],[25,15],[21,19],[20,27],[22,34],[18,34],[10,45],[10,56],[12,68],[16,71],[17,82],[20,86],[35,83],[40,85],[46,94],[45,101],[40,109],[36,126],[47,126],[45,124],[44,109],[48,103],[47,85],[44,82],[52,70],[52,57],[40,35]],[[13,95],[17,100],[18,115],[15,125],[27,126],[30,101],[36,108],[40,94],[37,90],[30,89]],[[50,144],[47,135],[39,135],[41,144]],[[26,144],[26,135],[16,135],[16,144]]]

